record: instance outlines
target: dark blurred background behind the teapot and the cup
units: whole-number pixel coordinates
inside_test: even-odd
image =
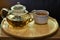
[[[34,9],[49,11],[50,16],[60,24],[60,0],[0,0],[0,9],[3,7],[10,9],[17,2],[25,5],[29,12]]]

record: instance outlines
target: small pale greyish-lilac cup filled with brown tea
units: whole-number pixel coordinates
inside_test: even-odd
[[[46,24],[48,22],[49,12],[46,10],[34,11],[33,18],[35,23]]]

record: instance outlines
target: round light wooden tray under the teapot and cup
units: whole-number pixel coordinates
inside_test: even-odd
[[[24,27],[13,27],[6,21],[4,18],[1,22],[2,29],[13,36],[23,37],[23,38],[34,38],[34,37],[43,37],[50,35],[57,31],[58,23],[54,18],[49,17],[48,23],[44,25],[39,25],[34,22],[30,22]]]

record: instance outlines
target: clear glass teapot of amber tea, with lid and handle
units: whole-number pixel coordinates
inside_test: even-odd
[[[6,11],[8,13],[4,14],[3,11]],[[12,6],[11,10],[2,8],[1,12],[2,18],[5,17],[4,15],[6,15],[5,18],[7,22],[14,27],[22,27],[32,21],[31,15],[27,14],[28,11],[26,10],[26,7],[21,5],[19,2],[17,2],[16,5]]]

